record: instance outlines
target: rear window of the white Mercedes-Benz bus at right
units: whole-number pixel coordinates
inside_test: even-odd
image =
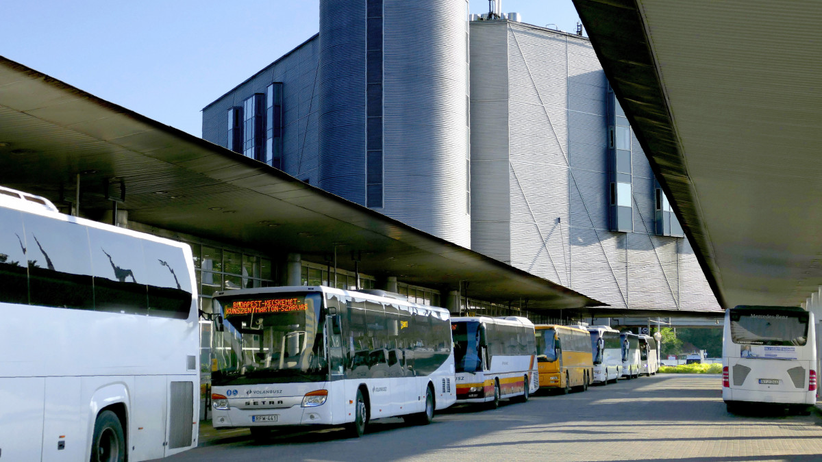
[[[807,338],[806,312],[731,312],[731,340],[735,344],[803,346]]]

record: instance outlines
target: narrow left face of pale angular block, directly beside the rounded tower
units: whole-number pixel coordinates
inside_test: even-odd
[[[508,27],[471,26],[471,248],[510,263]]]

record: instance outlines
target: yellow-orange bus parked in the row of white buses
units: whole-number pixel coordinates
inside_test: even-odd
[[[534,327],[540,389],[559,390],[563,395],[572,388],[588,390],[593,381],[589,331],[556,325]]]

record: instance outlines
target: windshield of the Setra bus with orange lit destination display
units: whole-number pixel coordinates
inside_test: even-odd
[[[326,381],[320,293],[215,298],[224,329],[215,332],[215,386]]]

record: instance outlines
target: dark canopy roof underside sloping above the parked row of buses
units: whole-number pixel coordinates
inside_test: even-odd
[[[81,173],[81,210],[126,185],[129,219],[250,247],[299,252],[353,270],[529,310],[600,306],[592,298],[435,238],[277,169],[0,57],[0,184],[65,205]],[[218,210],[212,210],[218,209]]]

